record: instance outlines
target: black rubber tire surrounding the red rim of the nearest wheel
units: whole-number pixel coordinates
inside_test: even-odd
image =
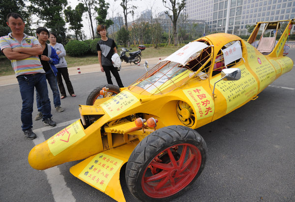
[[[178,193],[166,198],[151,198],[144,193],[141,178],[149,162],[159,152],[179,143],[189,143],[197,146],[202,155],[201,167],[195,178]],[[207,159],[207,145],[203,137],[194,129],[187,126],[162,127],[145,137],[132,151],[126,165],[125,179],[131,194],[141,201],[170,201],[189,189],[204,170]]]

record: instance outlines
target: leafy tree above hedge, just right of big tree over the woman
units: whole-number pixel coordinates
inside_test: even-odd
[[[75,10],[72,10],[71,6],[68,6],[64,10],[65,22],[70,23],[69,28],[75,32],[76,40],[78,40],[78,36],[81,40],[83,40],[83,35],[81,31],[81,28],[83,27],[82,15],[86,11],[87,7],[84,7],[83,3],[79,3],[76,6]]]

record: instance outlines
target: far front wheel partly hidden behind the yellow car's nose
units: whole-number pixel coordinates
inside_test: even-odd
[[[115,86],[112,84],[101,85],[101,86],[95,88],[89,94],[87,101],[86,101],[87,105],[93,105],[97,99],[103,98],[103,96],[100,95],[100,91],[102,90],[103,87],[106,87],[109,89],[106,97],[116,96],[120,92],[120,88],[118,86]]]

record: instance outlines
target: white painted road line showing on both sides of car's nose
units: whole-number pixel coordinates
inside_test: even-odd
[[[75,121],[77,121],[77,119],[59,123],[57,124],[56,127],[68,126],[74,123]],[[38,136],[36,139],[33,140],[34,144],[38,145],[44,142],[45,138],[44,138],[43,132],[50,129],[52,129],[52,127],[46,126],[46,127],[33,130],[33,132],[36,133],[36,135]],[[64,177],[61,175],[60,170],[57,166],[46,169],[44,170],[44,172],[47,176],[48,183],[51,186],[51,191],[52,191],[54,200],[56,202],[66,202],[66,201],[75,202],[76,201],[71,189],[66,186]]]

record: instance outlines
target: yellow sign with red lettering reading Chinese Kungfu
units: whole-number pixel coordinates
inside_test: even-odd
[[[183,90],[186,97],[192,102],[195,108],[197,119],[204,119],[214,114],[214,102],[212,97],[203,87],[196,87]]]

